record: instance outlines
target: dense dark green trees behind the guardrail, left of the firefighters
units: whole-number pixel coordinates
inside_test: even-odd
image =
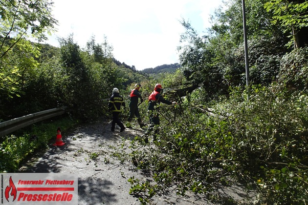
[[[21,42],[23,46],[32,45],[29,41]],[[1,95],[3,119],[9,120],[57,106],[68,106],[69,112],[82,120],[107,116],[108,110],[102,99],[110,97],[113,87],[122,88],[127,81],[120,76],[125,75],[119,72],[120,68],[112,61],[112,49],[108,42],[95,45],[95,40],[91,39],[96,46],[95,52],[80,49],[72,35],[60,39],[60,43],[61,47],[57,49],[35,44],[36,48],[43,48],[41,53],[39,50],[26,53],[17,46],[12,50],[9,57],[20,59],[19,62],[23,63],[20,63],[20,67],[24,71],[22,75],[16,75],[19,79],[19,82],[15,82],[19,87],[19,95],[12,96],[8,91]],[[13,72],[7,71],[7,75],[13,79],[13,74],[10,74]],[[3,87],[8,83],[4,78]],[[14,86],[8,88],[17,94]]]

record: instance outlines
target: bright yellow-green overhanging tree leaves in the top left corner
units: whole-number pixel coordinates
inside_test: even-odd
[[[37,48],[25,39],[42,41],[54,30],[57,21],[51,15],[52,5],[49,0],[0,0],[2,94],[18,94],[24,74],[36,66],[33,57],[39,54]]]

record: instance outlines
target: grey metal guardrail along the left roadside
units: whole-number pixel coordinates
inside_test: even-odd
[[[33,123],[64,114],[65,109],[66,107],[57,107],[0,123],[0,136],[7,135]]]

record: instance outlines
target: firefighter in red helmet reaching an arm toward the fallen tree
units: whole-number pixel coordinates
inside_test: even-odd
[[[149,96],[149,106],[148,111],[150,113],[150,125],[148,127],[147,133],[145,134],[145,142],[148,143],[148,135],[154,130],[153,141],[156,141],[156,135],[158,133],[158,125],[159,125],[159,104],[160,102],[175,105],[176,102],[170,102],[165,100],[162,95],[160,94],[162,91],[161,84],[156,84],[154,87],[154,91]]]

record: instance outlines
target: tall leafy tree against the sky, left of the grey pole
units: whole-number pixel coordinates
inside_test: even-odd
[[[185,44],[178,50],[181,52],[179,60],[184,76],[193,85],[202,87],[205,97],[224,94],[227,88],[222,83],[223,76],[219,64],[215,64],[216,53],[208,37],[198,36],[189,22],[183,20],[182,25],[186,32],[181,36],[181,41]]]

